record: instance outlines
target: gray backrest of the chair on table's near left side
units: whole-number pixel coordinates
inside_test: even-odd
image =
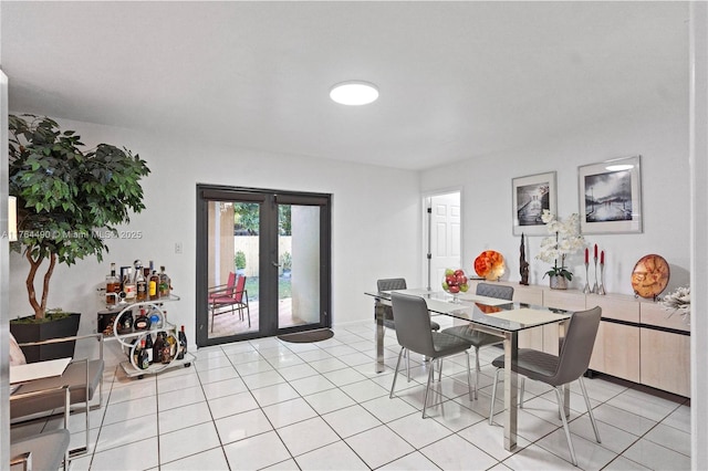
[[[420,296],[392,293],[396,338],[402,347],[412,352],[435,356],[430,314],[425,300]]]

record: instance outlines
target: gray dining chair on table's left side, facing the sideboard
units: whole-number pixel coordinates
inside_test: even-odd
[[[425,300],[419,296],[412,296],[400,293],[392,293],[391,301],[393,304],[394,321],[396,322],[396,338],[400,345],[398,360],[396,362],[396,370],[394,371],[394,380],[391,385],[389,398],[393,399],[396,389],[396,377],[400,367],[400,357],[404,350],[415,352],[429,358],[428,381],[425,388],[425,398],[423,399],[423,418],[426,418],[426,409],[428,407],[428,393],[430,383],[435,375],[435,360],[464,353],[467,356],[467,387],[469,389],[470,400],[472,398],[472,381],[469,368],[468,349],[471,345],[461,338],[452,335],[434,332],[430,329],[430,317],[428,306]]]

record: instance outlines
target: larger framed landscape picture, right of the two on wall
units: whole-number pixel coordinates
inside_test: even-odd
[[[577,167],[584,234],[642,232],[641,156]]]

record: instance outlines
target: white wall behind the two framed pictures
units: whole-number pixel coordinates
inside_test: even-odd
[[[680,84],[678,88],[683,90]],[[670,264],[668,292],[689,282],[687,116],[686,94],[667,100],[660,109],[641,109],[631,116],[589,124],[544,145],[424,171],[421,190],[462,185],[464,268],[473,273],[475,258],[492,249],[507,260],[503,279],[519,281],[520,238],[512,236],[511,179],[555,170],[559,216],[564,218],[579,212],[579,166],[639,154],[643,233],[585,238],[606,252],[607,292],[633,294],[632,270],[637,260],[648,253],[658,253]],[[548,278],[542,276],[550,266],[534,259],[541,237],[529,239],[530,283],[546,284]],[[582,289],[585,283],[583,255],[571,260],[570,266],[575,275],[571,287]],[[592,268],[590,278],[594,282]]]

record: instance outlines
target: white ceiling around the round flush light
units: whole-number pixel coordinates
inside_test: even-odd
[[[10,109],[423,169],[687,100],[683,2],[10,2]],[[345,80],[372,105],[330,101]]]

